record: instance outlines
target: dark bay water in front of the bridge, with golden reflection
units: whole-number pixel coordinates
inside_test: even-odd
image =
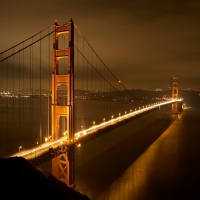
[[[169,108],[82,145],[79,191],[95,200],[200,199],[200,104]]]

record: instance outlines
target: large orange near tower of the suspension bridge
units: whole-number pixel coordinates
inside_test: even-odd
[[[66,49],[59,49],[59,35],[68,34],[68,44]],[[67,74],[59,74],[59,60],[67,59],[65,62]],[[59,105],[59,87],[66,85],[67,100],[65,105]],[[69,21],[64,26],[59,26],[57,21],[54,24],[53,35],[53,64],[52,64],[52,139],[59,138],[61,125],[60,118],[65,117],[66,125],[64,129],[67,133],[68,141],[74,140],[74,23]],[[63,128],[63,127],[62,127]],[[67,154],[52,159],[52,174],[65,182],[67,185],[74,184],[74,145],[68,148]]]

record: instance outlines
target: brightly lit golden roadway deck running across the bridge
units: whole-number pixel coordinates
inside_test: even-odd
[[[99,131],[106,129],[107,127],[111,127],[111,126],[121,123],[127,119],[139,116],[141,114],[148,113],[149,111],[153,111],[162,106],[173,104],[176,102],[182,102],[182,99],[170,100],[170,101],[166,101],[166,102],[154,103],[152,105],[146,105],[138,110],[131,111],[130,113],[125,113],[122,116],[118,116],[118,117],[110,119],[108,121],[104,121],[100,124],[93,125],[86,130],[79,131],[79,132],[75,133],[74,141],[69,141],[66,136],[63,136],[56,141],[48,141],[44,144],[41,144],[41,145],[36,146],[31,149],[27,149],[27,150],[18,152],[11,156],[12,157],[13,156],[22,156],[28,160],[33,160],[32,163],[34,163],[34,165],[35,165],[35,163],[41,164],[41,162],[45,162],[48,158],[51,159],[52,157],[59,155],[59,153],[62,154],[64,151],[66,153],[67,148],[69,148],[70,145],[76,145],[77,147],[79,147],[80,141],[82,141],[82,139],[86,138],[88,135],[98,134]],[[110,131],[110,130],[112,130],[112,129],[108,129],[108,131]],[[44,156],[42,156],[42,155],[44,155]],[[36,159],[37,157],[39,157],[39,158]]]

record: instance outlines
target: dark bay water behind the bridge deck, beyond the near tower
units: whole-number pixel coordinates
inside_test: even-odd
[[[60,103],[65,102],[61,99]],[[137,106],[138,107],[138,106]],[[134,105],[98,100],[75,100],[75,133],[135,108]],[[60,117],[59,137],[66,131]],[[0,97],[0,157],[35,147],[51,136],[51,99]],[[35,153],[33,153],[33,157]]]

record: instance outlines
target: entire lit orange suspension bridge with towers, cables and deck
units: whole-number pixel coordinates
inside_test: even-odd
[[[81,143],[161,106],[178,112],[182,103],[177,76],[170,98],[141,102],[72,20],[1,52],[0,77],[0,156],[23,156],[34,166],[52,159],[52,174],[68,185]]]

